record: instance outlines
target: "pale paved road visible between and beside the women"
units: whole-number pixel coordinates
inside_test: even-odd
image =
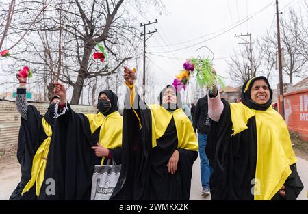
[[[308,200],[308,161],[298,157],[298,173],[304,183],[304,189],[298,196],[298,200]],[[10,194],[15,189],[21,177],[21,170],[17,161],[10,160],[7,164],[0,165],[0,200],[8,200]],[[200,159],[198,158],[193,166],[192,187],[190,191],[190,200],[210,200],[210,196],[201,196],[200,179]]]

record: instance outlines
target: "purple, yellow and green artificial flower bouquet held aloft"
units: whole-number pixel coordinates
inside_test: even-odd
[[[186,85],[188,84],[188,80],[192,76],[194,70],[196,70],[196,80],[199,86],[212,88],[215,84],[219,83],[224,87],[224,81],[222,77],[214,74],[212,72],[213,63],[209,59],[187,59],[183,64],[183,70],[179,73],[179,75],[175,76],[175,80],[172,85],[175,86],[177,92],[179,92],[182,88],[186,90]]]

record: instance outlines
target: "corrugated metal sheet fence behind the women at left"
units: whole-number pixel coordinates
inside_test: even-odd
[[[29,103],[34,105],[40,113],[47,111],[49,103]],[[71,105],[78,113],[96,113],[97,109],[92,106]],[[0,101],[0,150],[12,148],[17,144],[21,116],[16,109],[15,102]]]

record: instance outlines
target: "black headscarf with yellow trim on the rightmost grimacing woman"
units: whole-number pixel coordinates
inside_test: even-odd
[[[251,87],[253,86],[253,83],[259,79],[263,79],[264,81],[266,81],[266,84],[268,84],[268,90],[270,90],[270,99],[264,104],[257,104],[251,99]],[[246,89],[247,84],[249,85]],[[241,101],[250,109],[266,111],[266,109],[268,109],[268,107],[270,107],[270,105],[272,104],[272,89],[270,88],[270,83],[268,83],[268,79],[266,79],[266,77],[264,76],[248,79],[242,87]]]

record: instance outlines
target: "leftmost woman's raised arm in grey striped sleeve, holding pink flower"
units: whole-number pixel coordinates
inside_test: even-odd
[[[21,77],[18,73],[16,78],[19,81],[19,87],[16,92],[16,109],[21,114],[21,117],[27,120],[27,97],[26,97],[26,83],[27,77]]]

